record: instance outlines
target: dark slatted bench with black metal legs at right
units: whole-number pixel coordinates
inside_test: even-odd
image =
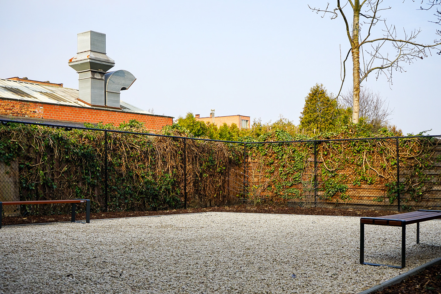
[[[360,264],[368,265],[385,265],[391,268],[404,268],[406,266],[406,225],[416,223],[416,242],[419,243],[419,223],[426,220],[436,220],[441,218],[440,210],[417,210],[414,212],[406,212],[395,214],[392,216],[381,217],[362,217],[360,219]],[[401,227],[401,266],[388,264],[371,264],[364,262],[364,225],[380,225]]]

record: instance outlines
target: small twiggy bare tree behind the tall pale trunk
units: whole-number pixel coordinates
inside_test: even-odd
[[[344,108],[352,107],[353,93],[350,89],[341,95],[339,100]],[[360,89],[360,117],[366,118],[367,122],[375,128],[385,126],[389,123],[389,117],[393,109],[389,108],[389,103],[381,97],[379,92],[372,89],[361,87]]]

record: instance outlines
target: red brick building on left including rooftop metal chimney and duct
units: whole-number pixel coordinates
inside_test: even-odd
[[[171,116],[154,115],[120,100],[120,92],[136,78],[125,70],[108,71],[115,62],[106,55],[104,33],[87,31],[77,37],[77,55],[68,64],[78,73],[79,90],[28,78],[0,79],[0,117],[65,125],[119,125],[136,119],[149,130],[172,125]]]

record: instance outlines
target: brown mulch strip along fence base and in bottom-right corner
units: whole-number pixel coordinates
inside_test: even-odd
[[[195,212],[246,212],[246,213],[278,213],[278,214],[303,214],[317,216],[365,216],[377,217],[397,214],[397,211],[365,210],[365,209],[339,209],[339,208],[303,208],[286,207],[280,205],[232,205],[215,206],[206,208],[173,209],[147,212],[97,212],[90,213],[91,220],[112,219],[135,216],[162,216],[170,214],[195,213]],[[84,220],[85,213],[77,213],[77,220]],[[4,216],[3,225],[29,224],[29,223],[52,223],[70,221],[70,215],[27,215],[27,216]],[[441,294],[441,264],[427,268],[424,272],[405,279],[403,282],[387,287],[378,294]]]

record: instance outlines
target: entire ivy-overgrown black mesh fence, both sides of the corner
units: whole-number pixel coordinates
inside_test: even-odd
[[[441,205],[439,136],[235,142],[0,122],[23,126],[0,132],[0,201],[89,198],[95,211]],[[6,207],[7,215],[68,209]]]

